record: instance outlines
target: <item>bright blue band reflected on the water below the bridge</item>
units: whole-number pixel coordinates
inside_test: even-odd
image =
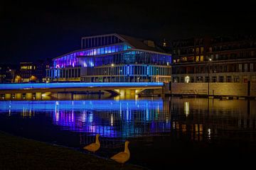
[[[112,101],[112,100],[92,100],[92,101],[1,101],[0,113],[6,113],[11,109],[11,112],[23,111],[55,111],[67,110],[67,111],[126,111],[129,106],[129,110],[143,110],[143,109],[156,109],[160,106],[160,110],[163,110],[164,103],[161,99],[151,101],[149,99],[143,100],[124,100],[124,101]]]

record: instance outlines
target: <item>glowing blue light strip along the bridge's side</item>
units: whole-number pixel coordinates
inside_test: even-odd
[[[164,86],[162,82],[138,82],[138,83],[40,83],[40,84],[0,84],[0,90],[18,89],[50,89],[50,88],[82,88],[82,87],[116,87],[116,86]]]

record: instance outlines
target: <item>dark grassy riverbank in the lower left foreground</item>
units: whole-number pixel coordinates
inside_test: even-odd
[[[144,169],[0,131],[0,169]]]

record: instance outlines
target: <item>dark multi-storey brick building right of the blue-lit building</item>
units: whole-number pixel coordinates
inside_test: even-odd
[[[172,82],[256,82],[256,38],[173,42]]]

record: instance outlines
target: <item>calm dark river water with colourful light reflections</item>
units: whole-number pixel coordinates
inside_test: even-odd
[[[100,134],[100,157],[129,140],[128,164],[249,165],[256,154],[256,101],[206,98],[1,101],[0,130],[78,149]]]

